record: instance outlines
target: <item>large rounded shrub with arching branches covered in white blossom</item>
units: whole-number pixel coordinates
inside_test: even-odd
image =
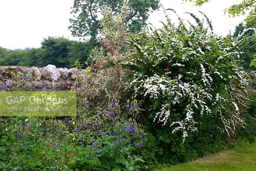
[[[161,29],[133,35],[124,63],[135,71],[135,96],[144,101],[152,121],[179,132],[183,143],[204,118],[214,118],[216,129],[228,136],[243,123],[239,115],[248,80],[234,57],[241,54],[236,50],[243,35],[255,31],[247,29],[236,39],[218,37],[191,16],[198,26],[187,28],[182,20],[174,26],[167,19]]]

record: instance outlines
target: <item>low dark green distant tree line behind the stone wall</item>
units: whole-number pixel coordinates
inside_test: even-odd
[[[48,37],[41,48],[5,49],[0,47],[0,65],[72,67],[76,60],[87,61],[95,41],[73,41],[64,37]]]

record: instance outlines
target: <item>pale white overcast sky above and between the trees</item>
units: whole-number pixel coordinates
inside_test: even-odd
[[[240,3],[242,0],[211,0],[210,3],[202,7],[195,7],[189,2],[182,0],[161,0],[164,8],[172,8],[182,19],[191,19],[184,12],[195,13],[199,18],[204,12],[214,28],[214,33],[227,35],[229,30],[233,33],[235,26],[244,20],[244,16],[229,18],[224,16],[223,9],[232,4]],[[1,0],[0,1],[0,46],[4,48],[38,48],[43,38],[48,36],[64,36],[69,39],[74,38],[68,26],[70,7],[73,0]],[[170,12],[172,21],[177,22],[177,18]],[[159,20],[164,21],[163,10],[155,11],[148,19],[148,22],[156,28],[161,27]]]

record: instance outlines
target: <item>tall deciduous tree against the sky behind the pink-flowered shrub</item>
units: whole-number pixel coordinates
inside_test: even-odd
[[[126,0],[127,1],[127,0]],[[74,0],[69,19],[69,29],[73,36],[92,36],[99,33],[102,8],[112,10],[113,15],[121,12],[123,0]],[[159,8],[159,0],[129,0],[130,9],[126,19],[129,31],[136,32],[146,25],[150,12]]]

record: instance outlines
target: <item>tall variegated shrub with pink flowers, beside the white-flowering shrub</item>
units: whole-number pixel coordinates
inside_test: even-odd
[[[84,73],[81,73],[80,68],[79,82],[72,87],[73,90],[84,89],[81,104],[88,102],[90,106],[106,108],[109,101],[126,103],[131,98],[127,80],[129,71],[123,70],[121,66],[127,52],[124,43],[127,38],[124,23],[127,4],[122,10],[117,16],[113,16],[112,11],[103,10],[105,17],[101,20],[101,31],[104,38],[98,39],[102,46],[92,50],[91,65],[86,67]]]

